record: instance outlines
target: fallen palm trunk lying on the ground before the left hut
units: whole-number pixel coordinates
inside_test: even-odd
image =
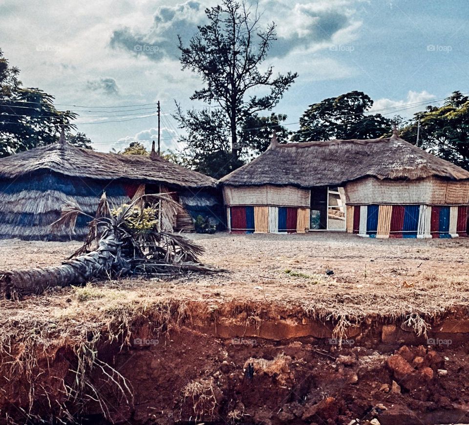
[[[61,266],[30,268],[25,270],[0,270],[0,296],[6,299],[21,299],[26,295],[40,294],[47,288],[83,285],[90,279],[105,275],[116,265],[125,268],[120,257],[121,243],[113,233],[99,241],[98,247],[87,254],[79,255]]]

